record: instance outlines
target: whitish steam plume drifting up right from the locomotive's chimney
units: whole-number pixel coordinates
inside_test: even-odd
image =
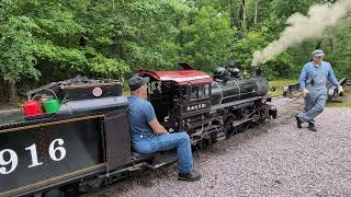
[[[328,27],[331,27],[344,18],[351,10],[351,0],[338,0],[333,4],[315,4],[309,8],[307,15],[294,13],[286,24],[287,26],[278,40],[269,44],[262,51],[253,53],[251,65],[264,63],[288,47],[301,44],[303,40],[324,35]]]

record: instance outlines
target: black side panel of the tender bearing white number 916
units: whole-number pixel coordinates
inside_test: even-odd
[[[11,189],[101,164],[102,149],[99,148],[101,124],[101,117],[94,117],[69,123],[41,124],[39,127],[24,127],[21,130],[0,134],[0,151],[10,149],[18,154],[15,170],[10,174],[0,173],[0,179],[5,179],[0,183],[0,196]],[[64,143],[59,144],[57,140]],[[41,163],[35,166],[31,166],[35,162],[32,152],[27,149],[33,144],[37,152],[37,163]],[[61,152],[49,154],[50,144],[53,144],[52,149],[58,147],[65,149],[66,154],[61,160],[54,161],[53,155],[58,159],[63,154]],[[9,160],[10,154],[4,153],[3,157]],[[10,166],[4,167],[9,171]]]

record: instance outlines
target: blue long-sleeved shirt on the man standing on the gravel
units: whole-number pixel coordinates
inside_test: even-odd
[[[328,80],[336,86],[340,85],[329,62],[321,61],[319,67],[307,62],[298,78],[299,89],[326,88]]]

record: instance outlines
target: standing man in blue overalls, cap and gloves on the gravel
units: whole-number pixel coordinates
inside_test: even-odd
[[[329,62],[322,61],[324,51],[317,49],[312,53],[313,60],[307,62],[299,76],[299,89],[305,97],[305,108],[296,116],[297,127],[302,128],[302,123],[308,123],[308,129],[317,131],[315,117],[319,115],[327,102],[327,81],[329,80],[338,88],[338,94],[343,92]]]

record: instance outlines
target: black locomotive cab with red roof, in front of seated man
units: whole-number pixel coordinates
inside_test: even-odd
[[[148,101],[160,124],[173,130],[192,131],[208,121],[211,84],[208,74],[196,70],[149,71]]]

